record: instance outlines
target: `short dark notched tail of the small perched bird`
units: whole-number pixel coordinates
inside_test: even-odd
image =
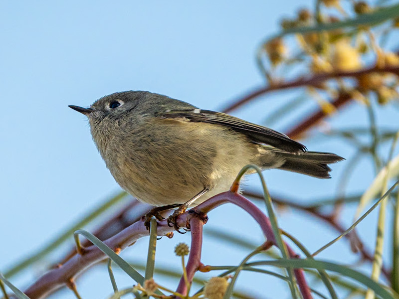
[[[279,151],[284,163],[279,169],[298,172],[318,178],[331,178],[328,164],[344,160],[331,152],[306,151],[300,154]]]

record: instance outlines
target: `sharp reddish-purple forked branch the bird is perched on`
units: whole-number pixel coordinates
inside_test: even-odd
[[[247,211],[258,222],[266,239],[275,244],[275,238],[269,219],[266,217],[265,214],[262,213],[262,211],[260,211],[256,207],[256,205],[254,205],[252,202],[250,202],[241,195],[232,193],[230,191],[220,193],[198,205],[195,210],[198,212],[207,213],[212,209],[227,202],[236,204],[239,207],[243,208],[245,211]],[[199,225],[199,223],[197,222],[197,220],[194,220],[196,217],[193,218],[192,214],[193,213],[190,213],[190,211],[184,213],[178,218],[177,223],[180,227],[184,227],[186,226],[186,223],[189,222],[194,228],[195,232],[200,232],[199,226],[197,226]],[[167,233],[173,231],[173,229],[168,226],[166,220],[160,221],[158,223],[157,230],[157,234],[159,236],[164,236]],[[144,222],[138,221],[130,225],[120,233],[116,234],[115,236],[105,240],[104,243],[114,251],[122,251],[129,245],[137,241],[139,238],[148,235],[149,232],[144,226]],[[194,242],[200,242],[199,238],[193,237],[193,239]],[[200,265],[200,251],[198,250],[200,243],[194,243],[192,244],[192,246],[193,245],[195,248],[195,254],[198,256],[198,258],[195,262],[192,262],[187,267],[187,271],[188,273],[190,273],[190,277],[194,276],[193,273],[198,270],[198,267]],[[289,249],[289,253],[291,257],[296,257],[291,249]],[[52,269],[45,273],[25,291],[25,294],[30,299],[45,298],[47,295],[68,284],[71,280],[73,280],[76,276],[85,271],[88,267],[104,260],[105,258],[106,256],[96,246],[89,246],[85,248],[85,250],[83,250],[83,254],[76,254],[75,256],[70,258],[64,265],[60,265],[58,268]],[[305,299],[311,299],[312,297],[309,287],[306,284],[303,271],[301,269],[295,270],[295,276],[299,288],[302,292],[302,296]]]

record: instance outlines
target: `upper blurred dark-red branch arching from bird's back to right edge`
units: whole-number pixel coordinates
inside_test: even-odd
[[[361,69],[358,71],[353,71],[353,72],[334,72],[334,73],[326,73],[326,74],[319,74],[312,76],[310,78],[302,78],[299,80],[295,81],[289,81],[286,83],[276,83],[270,86],[266,87],[260,87],[256,89],[255,91],[251,92],[247,96],[241,98],[240,100],[237,100],[233,104],[228,105],[226,108],[223,109],[224,113],[229,113],[242,105],[254,100],[255,98],[259,97],[260,95],[263,95],[265,93],[271,92],[271,91],[277,91],[277,90],[284,90],[284,89],[290,89],[290,88],[295,88],[295,87],[303,87],[303,86],[319,86],[321,83],[323,83],[326,80],[329,79],[334,79],[334,78],[345,78],[345,77],[353,77],[353,78],[359,78],[360,76],[368,73],[373,73],[373,72],[378,72],[378,73],[392,73],[399,75],[399,66],[387,66],[384,68],[379,68],[377,66],[371,67],[371,68],[365,68]]]

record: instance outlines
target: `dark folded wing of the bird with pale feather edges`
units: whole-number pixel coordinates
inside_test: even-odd
[[[166,119],[184,119],[185,121],[190,122],[224,126],[233,131],[244,134],[255,143],[270,145],[277,149],[282,149],[288,152],[300,153],[306,151],[306,147],[304,145],[290,139],[284,134],[220,112],[201,109],[188,109],[167,110],[165,112],[159,112],[157,115]]]

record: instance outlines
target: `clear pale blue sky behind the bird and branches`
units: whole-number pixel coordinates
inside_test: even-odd
[[[303,6],[313,7],[313,1],[2,1],[0,270],[57,236],[79,215],[119,190],[91,141],[85,117],[67,105],[88,106],[106,94],[134,89],[220,109],[263,84],[254,62],[259,42],[278,30],[282,16],[293,15]],[[235,115],[261,122],[292,95],[273,93]],[[393,124],[397,114],[391,110],[381,111],[385,117],[378,119],[380,123]],[[366,120],[365,109],[352,105],[331,125],[351,127]],[[287,125],[274,128],[283,130]],[[305,143],[311,150],[334,151],[345,157],[354,152],[323,138]],[[338,176],[342,167],[335,165],[333,176]],[[365,163],[357,173],[360,177],[355,176],[351,183],[354,189],[363,190],[373,178],[372,167]],[[304,200],[334,194],[338,181],[276,170],[267,171],[265,176],[270,189],[301,194]],[[256,177],[248,182],[259,188]],[[249,218],[243,216],[244,225],[232,228],[226,213],[233,217],[242,214],[225,206],[210,215],[209,225],[261,242],[260,231],[253,230],[255,224]],[[348,215],[351,219],[352,212]],[[292,212],[280,215],[280,224],[311,250],[335,236],[323,227],[309,234],[309,227],[318,224],[309,224],[304,230],[298,226],[302,221],[301,215]],[[375,215],[365,222],[370,244],[373,221]],[[161,240],[157,261],[167,264],[173,259],[174,245],[180,241],[189,243],[189,235]],[[247,254],[214,242],[205,241],[204,263],[237,264]],[[146,243],[144,240],[127,249],[126,256],[140,260]],[[349,252],[344,242],[334,251],[340,254],[327,251],[324,257],[334,259]],[[23,289],[45,266],[39,265],[30,275],[13,282]],[[256,276],[255,281],[260,278],[265,280]],[[123,275],[119,279],[121,286],[132,284]],[[243,274],[240,286],[251,290],[252,282],[253,277]],[[105,298],[112,292],[108,284],[105,268],[98,268],[83,276],[78,288],[83,298]],[[286,288],[271,278],[267,286],[271,289],[268,298],[281,294],[273,286]],[[64,291],[52,298],[74,296]]]

